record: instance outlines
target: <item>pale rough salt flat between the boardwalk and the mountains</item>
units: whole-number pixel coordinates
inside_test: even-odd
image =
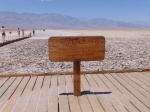
[[[29,34],[32,31],[25,33]],[[81,71],[150,68],[149,29],[38,30],[35,32],[35,36],[30,39],[0,47],[0,73],[72,71],[72,62],[47,60],[49,57],[48,38],[79,35],[102,35],[106,39],[105,59],[102,61],[83,61],[81,62]],[[17,38],[17,33],[14,32],[12,37]]]

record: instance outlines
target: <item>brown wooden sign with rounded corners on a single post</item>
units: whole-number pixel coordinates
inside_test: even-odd
[[[73,61],[74,95],[80,96],[80,62],[103,60],[103,36],[57,36],[49,38],[49,59],[54,62]]]

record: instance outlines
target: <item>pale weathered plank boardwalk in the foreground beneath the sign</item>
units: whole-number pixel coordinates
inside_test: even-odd
[[[0,112],[150,112],[150,72],[0,77]]]

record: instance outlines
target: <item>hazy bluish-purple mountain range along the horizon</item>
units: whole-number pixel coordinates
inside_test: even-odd
[[[150,28],[147,22],[124,22],[105,18],[83,19],[56,13],[32,14],[0,12],[0,26],[8,29],[97,29]]]

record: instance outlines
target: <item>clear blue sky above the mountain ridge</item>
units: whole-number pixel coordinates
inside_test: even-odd
[[[0,0],[0,11],[150,22],[150,0]]]

